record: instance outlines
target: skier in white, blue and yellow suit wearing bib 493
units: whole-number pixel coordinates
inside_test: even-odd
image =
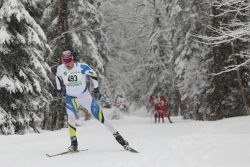
[[[97,120],[103,123],[114,135],[117,142],[120,143],[124,149],[128,150],[129,143],[118,133],[110,120],[103,115],[102,109],[96,102],[96,100],[100,100],[101,98],[96,72],[85,63],[75,62],[73,52],[71,51],[64,51],[61,60],[62,64],[57,67],[56,87],[57,96],[62,98],[64,94],[62,92],[62,84],[66,86],[66,110],[68,115],[68,130],[71,139],[71,145],[68,148],[69,151],[78,150],[75,122],[77,107],[79,105],[82,105],[92,113]],[[92,78],[95,99],[92,98],[86,87],[86,75]]]

